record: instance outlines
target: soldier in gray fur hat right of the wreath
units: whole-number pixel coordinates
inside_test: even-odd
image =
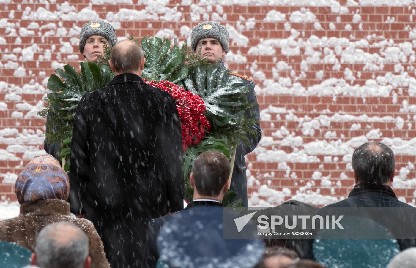
[[[201,50],[201,59],[208,56],[207,60],[210,64],[215,64],[218,59],[221,59],[218,63],[220,69],[225,69],[224,61],[222,57],[228,53],[230,43],[230,35],[224,25],[220,25],[218,22],[201,22],[192,28],[191,33],[191,48],[194,52],[198,52],[199,47]],[[254,118],[256,121],[260,120],[260,110],[257,101],[257,95],[254,91],[254,81],[246,76],[242,76],[236,73],[230,73],[233,76],[239,78],[239,84],[248,84],[249,93],[248,101],[254,102],[253,108],[245,111],[247,119]],[[237,197],[234,200],[241,199],[245,207],[248,206],[247,200],[247,165],[245,164],[244,155],[252,152],[257,144],[260,142],[262,131],[260,129],[260,123],[253,123],[251,128],[258,136],[248,135],[250,140],[250,146],[246,146],[240,141],[240,145],[236,148],[235,152],[235,165],[233,167],[233,176],[231,178],[230,189],[237,193]]]

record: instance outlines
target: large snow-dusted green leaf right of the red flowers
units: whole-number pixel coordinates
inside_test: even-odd
[[[248,136],[259,135],[251,127],[258,121],[245,116],[254,105],[248,101],[249,84],[217,65],[201,64],[191,70],[181,83],[203,99],[211,123],[208,135],[225,140],[231,152],[241,142],[249,146]]]

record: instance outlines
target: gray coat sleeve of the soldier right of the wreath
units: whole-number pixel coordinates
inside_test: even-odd
[[[253,132],[258,133],[258,135],[255,135],[254,137],[247,134],[247,137],[250,140],[250,145],[245,145],[242,141],[240,141],[240,145],[237,146],[236,152],[235,152],[235,165],[238,167],[238,171],[242,172],[244,170],[247,170],[247,166],[245,165],[245,159],[244,155],[247,155],[249,152],[252,152],[258,143],[260,142],[262,131],[260,129],[260,109],[259,109],[259,103],[257,101],[257,95],[254,90],[254,81],[248,81],[246,79],[243,79],[244,83],[248,83],[249,87],[249,93],[248,93],[248,102],[254,103],[254,106],[252,108],[249,108],[245,111],[245,115],[247,116],[247,119],[255,119],[258,121],[258,123],[251,124],[250,128],[253,130]]]

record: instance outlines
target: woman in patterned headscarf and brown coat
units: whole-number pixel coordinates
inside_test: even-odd
[[[36,156],[17,177],[19,216],[0,221],[0,241],[15,242],[34,251],[37,234],[48,224],[69,221],[89,238],[92,268],[109,268],[101,238],[91,221],[71,216],[68,175],[52,155]]]

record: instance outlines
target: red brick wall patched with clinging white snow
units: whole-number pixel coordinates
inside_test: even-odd
[[[14,3],[18,2],[18,3]],[[394,190],[415,204],[414,0],[0,0],[0,195],[44,153],[37,117],[53,70],[78,67],[80,27],[114,25],[118,39],[188,39],[215,20],[230,33],[229,69],[252,77],[263,137],[248,155],[249,203],[325,205],[354,185],[354,148],[396,154]]]

